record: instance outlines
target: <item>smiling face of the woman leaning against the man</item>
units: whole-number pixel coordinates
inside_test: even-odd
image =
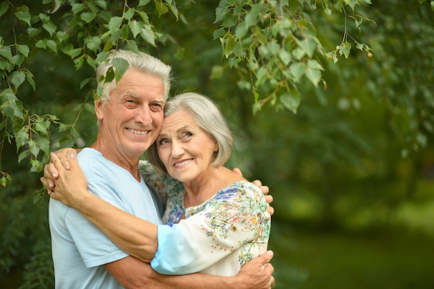
[[[158,156],[169,175],[180,182],[198,182],[218,150],[216,141],[202,130],[185,110],[164,117],[157,137]]]

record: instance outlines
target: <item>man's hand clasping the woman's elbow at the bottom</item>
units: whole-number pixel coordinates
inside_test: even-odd
[[[272,273],[275,268],[270,264],[273,252],[268,251],[258,258],[254,258],[246,263],[236,275],[241,278],[241,284],[250,289],[270,289],[271,285],[275,283],[275,277]]]

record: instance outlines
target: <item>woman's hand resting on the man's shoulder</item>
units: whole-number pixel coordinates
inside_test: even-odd
[[[63,155],[60,159],[55,153],[50,154],[51,163],[44,168],[46,173],[51,174],[53,186],[49,188],[46,179],[41,178],[42,184],[49,188],[49,195],[55,200],[59,200],[69,207],[78,207],[83,198],[89,194],[87,192],[87,179],[83,170],[78,165],[76,154]],[[69,169],[64,168],[68,164]]]

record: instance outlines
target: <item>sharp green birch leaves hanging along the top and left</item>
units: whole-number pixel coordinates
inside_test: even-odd
[[[77,70],[84,65],[95,69],[111,49],[139,51],[139,47],[148,45],[176,44],[162,22],[184,21],[179,21],[182,10],[170,0],[20,2],[0,4],[0,17],[8,24],[0,35],[1,143],[15,140],[18,161],[27,159],[31,172],[37,172],[47,161],[51,125],[64,131],[62,145],[73,145],[80,135],[73,125],[60,123],[52,114],[35,114],[22,101],[24,85],[37,89],[37,76],[28,68],[35,55],[44,51],[64,54]],[[314,85],[323,82],[321,58],[326,54],[306,10],[320,8],[326,15],[332,10],[340,12],[344,19],[354,19],[360,29],[366,18],[346,11],[354,12],[361,3],[370,0],[220,1],[214,20],[220,28],[214,31],[214,39],[220,40],[229,67],[239,71],[238,87],[252,91],[254,110],[271,102],[296,112],[301,100],[297,83],[304,77]],[[180,7],[192,5],[193,1],[186,1]],[[328,53],[335,62],[339,55],[348,57],[348,36],[345,28],[342,43]],[[371,51],[366,44],[356,42],[356,47]],[[92,80],[83,79],[80,87]],[[1,174],[1,184],[6,186],[10,175],[3,170]]]

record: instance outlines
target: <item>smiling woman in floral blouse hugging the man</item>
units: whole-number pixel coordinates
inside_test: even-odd
[[[148,150],[153,166],[140,165],[145,181],[168,193],[165,225],[136,218],[89,193],[74,157],[71,169],[64,170],[53,155],[59,177],[51,198],[83,213],[157,272],[233,276],[266,252],[270,212],[257,186],[223,166],[231,149],[232,134],[216,105],[200,94],[180,94],[164,107],[162,130]]]

